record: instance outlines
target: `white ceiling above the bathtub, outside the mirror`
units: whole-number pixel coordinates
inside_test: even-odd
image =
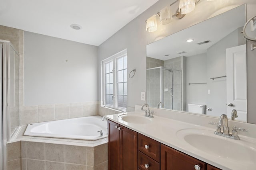
[[[0,25],[99,46],[157,1],[0,0]]]

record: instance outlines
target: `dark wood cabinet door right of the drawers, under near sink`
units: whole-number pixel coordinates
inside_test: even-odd
[[[160,163],[161,170],[194,170],[195,165],[199,165],[201,170],[206,170],[206,163],[163,144]]]

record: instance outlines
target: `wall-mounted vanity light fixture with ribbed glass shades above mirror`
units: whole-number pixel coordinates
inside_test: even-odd
[[[180,1],[179,8],[176,14],[172,14],[171,6],[176,2]],[[160,17],[160,23],[162,25],[166,25],[172,21],[172,17],[176,16],[176,18],[181,19],[186,14],[194,10],[195,4],[198,3],[200,0],[176,0],[169,6],[166,6],[160,12],[156,13],[154,16],[151,16],[146,20],[146,31],[154,32],[157,30],[157,23],[156,23],[156,16]]]

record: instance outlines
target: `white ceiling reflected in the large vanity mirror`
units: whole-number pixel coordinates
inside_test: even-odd
[[[147,57],[165,61],[180,56],[190,57],[206,53],[209,47],[238,27],[243,27],[244,24],[245,9],[244,6],[239,6],[147,45]],[[194,39],[194,41],[187,43],[187,39]],[[197,44],[207,40],[211,42],[203,45]],[[182,51],[186,53],[178,54]]]

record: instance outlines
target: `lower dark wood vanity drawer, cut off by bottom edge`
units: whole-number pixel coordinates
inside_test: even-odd
[[[148,168],[145,165],[148,164]],[[160,170],[160,163],[138,151],[138,169],[139,170]]]

